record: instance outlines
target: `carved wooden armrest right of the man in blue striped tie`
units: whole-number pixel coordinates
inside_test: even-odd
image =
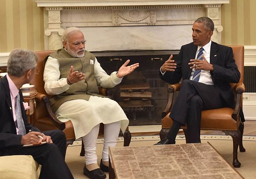
[[[235,119],[235,121],[240,120],[239,117],[239,111],[241,108],[241,98],[242,98],[242,94],[243,92],[245,92],[245,85],[242,82],[239,82],[235,85],[235,93],[237,95],[237,100],[235,103],[235,108],[234,111],[232,113],[232,118]]]

